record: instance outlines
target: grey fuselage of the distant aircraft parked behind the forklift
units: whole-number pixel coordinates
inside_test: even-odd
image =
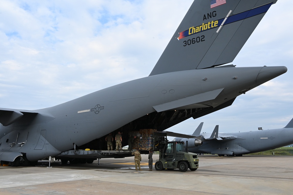
[[[221,134],[221,135],[220,135]],[[236,139],[208,140],[190,152],[222,155],[241,155],[272,150],[293,144],[293,128],[270,129],[241,133],[219,133],[219,136],[233,136]]]

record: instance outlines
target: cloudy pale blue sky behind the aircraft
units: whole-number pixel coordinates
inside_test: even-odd
[[[1,0],[0,107],[46,108],[147,77],[192,2]],[[272,5],[231,63],[287,73],[168,130],[193,133],[200,122],[209,133],[215,125],[226,133],[284,127],[293,118],[292,7]]]

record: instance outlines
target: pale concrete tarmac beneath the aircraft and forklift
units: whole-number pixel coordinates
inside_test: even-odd
[[[187,172],[148,171],[148,155],[142,158],[143,171],[135,171],[133,157],[101,159],[100,165],[0,167],[0,194],[293,194],[292,156],[199,155],[199,168]]]

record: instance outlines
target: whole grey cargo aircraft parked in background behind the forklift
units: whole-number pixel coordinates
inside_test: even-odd
[[[200,133],[202,125],[200,123],[192,135],[173,132],[167,132],[167,135],[179,136],[173,141],[187,141],[189,152],[230,157],[293,144],[293,118],[284,128],[241,133],[219,133],[219,125],[216,125],[213,133]]]

